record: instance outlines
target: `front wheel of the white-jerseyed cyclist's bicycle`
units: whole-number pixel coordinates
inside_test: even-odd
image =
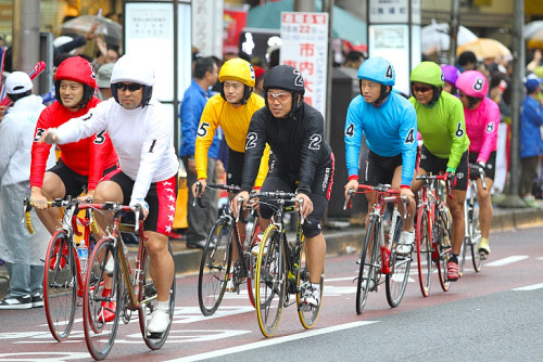
[[[87,348],[96,360],[103,360],[113,348],[117,334],[118,321],[122,311],[121,296],[121,271],[118,259],[115,256],[113,238],[102,238],[94,246],[89,258],[87,275],[85,279],[85,294],[83,301],[83,325]],[[105,280],[106,263],[113,258],[113,276],[111,276],[111,295],[104,296],[105,285],[110,282]],[[102,302],[115,301],[115,316],[113,321],[103,320]]]

